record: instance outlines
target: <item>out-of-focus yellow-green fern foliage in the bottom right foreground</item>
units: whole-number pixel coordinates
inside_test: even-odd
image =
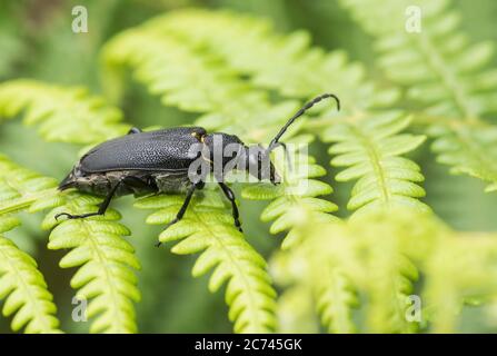
[[[294,277],[276,274],[277,280],[316,288],[330,332],[350,332],[351,308],[359,303],[366,306],[364,332],[415,332],[417,324],[405,317],[414,305],[407,297],[415,293],[429,330],[450,333],[465,298],[496,293],[495,234],[456,234],[431,214],[397,209],[340,224],[310,222],[300,233],[307,236],[301,246],[272,261],[275,269],[290,271],[282,277]],[[424,279],[420,290],[414,285],[418,278]]]

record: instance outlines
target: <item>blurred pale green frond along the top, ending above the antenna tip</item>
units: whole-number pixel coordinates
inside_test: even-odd
[[[374,88],[364,80],[365,69],[347,63],[342,51],[327,53],[310,48],[310,37],[305,31],[280,36],[268,20],[209,10],[170,12],[150,26],[179,36],[182,42],[207,47],[232,70],[250,76],[257,87],[301,99],[334,91],[347,107],[368,107],[374,102]]]

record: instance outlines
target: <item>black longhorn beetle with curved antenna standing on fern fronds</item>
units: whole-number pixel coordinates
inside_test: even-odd
[[[56,219],[61,216],[77,219],[103,215],[113,196],[186,191],[186,199],[176,218],[166,227],[168,228],[182,218],[195,190],[202,189],[205,186],[205,174],[196,178],[189,174],[192,162],[200,158],[202,162],[207,162],[210,172],[215,169],[212,156],[205,157],[198,150],[191,150],[195,145],[207,148],[210,155],[216,151],[216,145],[220,145],[219,148],[222,150],[228,145],[235,145],[238,149],[235,149],[233,155],[237,157],[237,162],[242,162],[242,169],[248,170],[259,180],[269,179],[272,184],[278,184],[278,176],[269,159],[269,154],[279,146],[286,149],[285,144],[279,142],[279,139],[288,127],[306,110],[325,98],[334,98],[337,109],[340,109],[340,101],[335,95],[325,93],[315,98],[288,120],[266,149],[261,146],[257,146],[257,149],[254,149],[255,146],[247,147],[233,135],[207,134],[201,127],[180,127],[149,132],[132,128],[127,136],[105,141],[92,148],[81,157],[59,185],[60,190],[76,188],[105,196],[98,211],[82,215],[61,212],[56,216]],[[232,156],[222,158],[222,171],[226,171],[232,158]],[[269,162],[268,169],[264,168],[264,161]],[[222,181],[222,174],[215,172],[215,179],[230,200],[235,225],[241,231],[232,190]]]

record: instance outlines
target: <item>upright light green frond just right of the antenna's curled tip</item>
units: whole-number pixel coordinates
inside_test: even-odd
[[[347,167],[336,179],[358,179],[347,206],[350,210],[364,212],[398,206],[428,209],[417,199],[425,196],[416,184],[424,180],[419,167],[400,156],[425,140],[424,136],[399,134],[409,121],[401,112],[389,112],[369,117],[360,125],[337,123],[322,135],[326,141],[336,142],[329,149],[335,156],[331,165]]]

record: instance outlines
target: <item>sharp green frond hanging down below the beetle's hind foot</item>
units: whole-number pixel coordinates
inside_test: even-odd
[[[64,204],[52,209],[42,222],[50,233],[50,249],[71,249],[60,267],[79,267],[71,279],[80,300],[89,300],[87,316],[93,317],[91,333],[135,333],[133,301],[140,299],[135,269],[140,263],[133,247],[123,239],[130,235],[119,224],[119,212],[108,210],[103,217],[66,220],[57,225],[59,212],[96,211],[100,198],[68,192]]]

